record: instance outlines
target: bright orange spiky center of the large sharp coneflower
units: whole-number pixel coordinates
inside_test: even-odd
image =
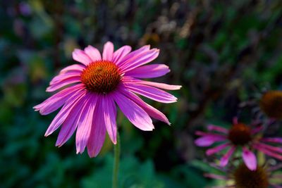
[[[121,81],[117,66],[106,60],[90,63],[82,71],[80,77],[88,91],[102,94],[107,94],[116,89]]]

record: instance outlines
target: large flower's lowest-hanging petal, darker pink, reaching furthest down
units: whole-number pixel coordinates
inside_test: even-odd
[[[106,136],[106,125],[102,113],[102,103],[97,101],[93,114],[90,138],[87,143],[87,152],[90,157],[95,157],[101,151]]]

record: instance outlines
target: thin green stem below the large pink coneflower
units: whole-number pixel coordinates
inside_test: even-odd
[[[118,188],[118,167],[119,167],[119,158],[121,155],[121,143],[119,134],[117,132],[117,142],[114,145],[114,168],[113,168],[113,188]]]

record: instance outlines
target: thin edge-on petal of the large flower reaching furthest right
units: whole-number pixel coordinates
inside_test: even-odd
[[[126,84],[133,84],[133,83],[142,84],[142,85],[148,85],[148,86],[158,87],[161,89],[168,89],[168,90],[177,90],[181,88],[180,85],[170,85],[170,84],[164,84],[164,83],[158,83],[158,82],[149,82],[149,81],[139,80],[139,79],[129,77],[129,76],[124,76],[123,82]]]

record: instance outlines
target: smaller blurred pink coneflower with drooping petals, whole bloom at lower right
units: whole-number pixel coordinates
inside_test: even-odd
[[[208,125],[207,129],[210,132],[196,132],[201,137],[195,140],[195,144],[197,146],[211,146],[216,142],[221,142],[219,146],[206,151],[209,156],[228,148],[228,151],[220,160],[221,166],[227,165],[233,153],[239,149],[242,149],[243,161],[250,170],[256,170],[257,168],[257,158],[255,153],[253,153],[254,149],[282,160],[281,147],[269,145],[270,143],[282,144],[282,138],[261,137],[259,132],[261,132],[262,127],[250,127],[243,123],[238,123],[238,120],[235,118],[229,130],[216,125]]]

